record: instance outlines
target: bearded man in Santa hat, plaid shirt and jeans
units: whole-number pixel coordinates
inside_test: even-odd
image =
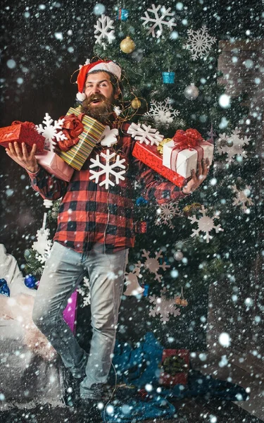
[[[105,185],[89,179],[90,159],[105,149],[101,145],[96,145],[69,183],[54,178],[39,166],[34,157],[35,145],[30,153],[25,145],[21,150],[17,143],[7,149],[11,158],[22,161],[32,188],[43,198],[62,197],[54,245],[37,290],[33,320],[80,383],[80,398],[84,403],[103,399],[103,386],[111,369],[127,254],[134,246],[135,178],[144,186],[142,195],[146,200],[162,204],[180,200],[192,192],[208,173],[208,161],[199,163],[197,173],[193,171],[189,183],[180,190],[132,156],[135,141],[127,133],[130,123],[119,121],[113,112],[120,96],[120,78],[120,66],[103,60],[82,66],[77,77],[82,113],[119,130],[113,148],[125,159],[127,171],[118,185],[106,189]],[[93,329],[89,355],[80,348],[63,320],[68,298],[87,273]]]

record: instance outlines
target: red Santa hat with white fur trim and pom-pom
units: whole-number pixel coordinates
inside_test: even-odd
[[[94,63],[88,63],[87,65],[82,66],[80,68],[79,74],[77,76],[77,85],[78,85],[78,92],[77,92],[77,99],[80,102],[83,102],[86,99],[86,95],[84,94],[84,85],[87,78],[87,75],[92,71],[107,71],[113,73],[118,80],[121,78],[121,68],[116,63],[111,60],[99,60]]]

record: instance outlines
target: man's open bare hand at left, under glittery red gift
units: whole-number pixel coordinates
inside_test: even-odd
[[[12,144],[9,142],[8,148],[6,148],[6,154],[8,154],[11,159],[16,161],[23,168],[27,168],[28,171],[35,173],[39,170],[39,165],[37,164],[37,159],[34,157],[34,154],[37,149],[37,145],[33,144],[32,150],[30,153],[27,152],[27,147],[25,142],[22,143],[22,150],[20,149],[18,142]]]

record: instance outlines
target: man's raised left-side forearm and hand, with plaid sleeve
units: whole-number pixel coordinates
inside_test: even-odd
[[[20,149],[18,142],[14,142],[14,145],[10,142],[8,147],[9,149],[6,149],[6,154],[25,168],[30,176],[33,190],[39,192],[42,198],[46,200],[58,200],[58,198],[61,198],[65,194],[68,183],[51,176],[37,163],[37,159],[34,156],[37,145],[33,145],[31,152],[27,152],[25,143],[22,144],[22,149]]]

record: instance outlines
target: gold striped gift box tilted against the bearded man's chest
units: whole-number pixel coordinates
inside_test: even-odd
[[[75,116],[78,116],[80,111],[70,107],[67,112],[67,116],[69,114],[75,114]],[[84,131],[79,135],[80,141],[77,145],[71,147],[68,152],[56,152],[61,159],[77,171],[81,170],[87,157],[89,157],[95,145],[101,139],[103,130],[106,128],[102,123],[86,115],[82,118],[82,124],[84,125]]]

